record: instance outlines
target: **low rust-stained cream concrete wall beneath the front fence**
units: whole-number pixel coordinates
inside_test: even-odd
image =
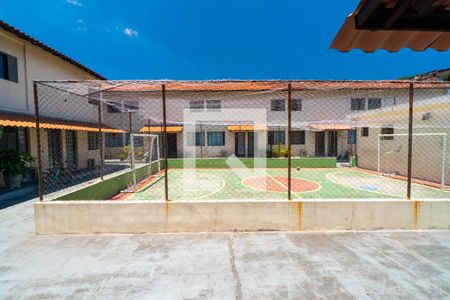
[[[450,229],[450,200],[52,201],[34,208],[37,234]]]

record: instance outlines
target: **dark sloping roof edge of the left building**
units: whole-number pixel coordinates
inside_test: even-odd
[[[98,74],[97,72],[94,72],[93,70],[89,69],[88,67],[86,67],[85,65],[79,63],[78,61],[74,60],[73,58],[68,57],[67,55],[53,49],[52,47],[44,44],[43,42],[29,36],[28,34],[20,31],[19,29],[9,25],[8,23],[5,23],[4,21],[0,20],[0,28],[14,34],[15,36],[61,58],[62,60],[65,60],[66,62],[76,66],[77,68],[83,70],[86,73],[89,73],[91,75],[93,75],[94,77],[101,79],[101,80],[105,80],[106,78],[103,77],[102,75]]]

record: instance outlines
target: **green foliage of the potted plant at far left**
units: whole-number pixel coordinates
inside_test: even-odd
[[[0,152],[0,170],[5,176],[21,175],[34,159],[29,153],[16,150],[4,150]]]

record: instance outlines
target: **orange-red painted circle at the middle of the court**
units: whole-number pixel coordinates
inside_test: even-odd
[[[287,192],[288,178],[285,176],[255,176],[242,181],[246,186],[260,191]],[[318,190],[320,185],[316,182],[291,178],[291,191],[304,193]]]

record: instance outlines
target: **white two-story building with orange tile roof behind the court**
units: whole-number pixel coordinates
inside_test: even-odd
[[[355,114],[395,109],[408,102],[407,84],[385,81],[291,81],[292,155],[348,160],[357,152]],[[169,157],[183,157],[184,147],[195,147],[197,157],[254,156],[258,134],[267,138],[272,153],[287,144],[287,82],[219,81],[170,84],[166,88]],[[134,132],[160,133],[161,87],[155,82],[130,83],[103,92],[104,119],[126,129],[128,113]],[[445,95],[446,89],[421,88],[417,101]],[[262,124],[250,110],[263,110]],[[125,112],[125,113],[124,113]],[[198,114],[199,118],[195,118]],[[214,121],[204,114],[216,116]],[[229,115],[224,119],[224,114]],[[197,126],[186,123],[194,117]],[[120,120],[120,121],[119,121]],[[386,122],[385,122],[386,123]],[[389,127],[381,122],[378,128]],[[258,126],[260,125],[260,126]],[[361,153],[361,151],[360,151]],[[269,153],[269,155],[271,155]]]

